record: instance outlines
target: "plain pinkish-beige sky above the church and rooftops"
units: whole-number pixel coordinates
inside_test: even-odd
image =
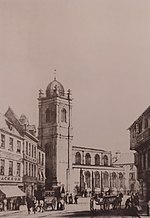
[[[129,150],[150,105],[149,0],[0,0],[0,112],[38,125],[38,90],[73,97],[74,145]]]

